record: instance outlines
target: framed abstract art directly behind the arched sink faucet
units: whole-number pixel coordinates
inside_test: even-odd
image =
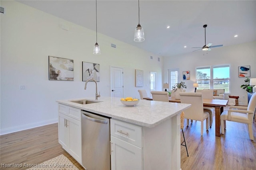
[[[94,79],[97,82],[100,81],[100,64],[82,62],[82,81],[85,82],[88,79]]]

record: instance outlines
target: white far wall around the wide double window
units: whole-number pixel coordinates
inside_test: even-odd
[[[242,37],[240,37],[242,38]],[[235,41],[235,39],[234,39]],[[203,52],[196,51],[185,55],[177,55],[172,57],[164,57],[164,82],[168,80],[168,69],[179,68],[180,81],[185,82],[188,86],[186,92],[194,92],[193,83],[196,82],[196,67],[210,66],[217,64],[231,64],[230,76],[230,94],[225,95],[228,100],[228,95],[239,96],[238,102],[241,105],[247,105],[247,92],[240,88],[245,84],[246,78],[238,77],[238,66],[250,65],[250,78],[256,78],[256,41],[228,47],[213,48],[212,51]],[[192,51],[192,49],[191,49]],[[182,71],[190,71],[190,80],[182,80]]]

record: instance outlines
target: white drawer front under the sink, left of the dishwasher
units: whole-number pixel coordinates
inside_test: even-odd
[[[81,121],[81,110],[75,107],[66,106],[64,104],[58,105],[58,112]]]

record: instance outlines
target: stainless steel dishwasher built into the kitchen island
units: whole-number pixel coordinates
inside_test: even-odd
[[[110,170],[110,118],[82,111],[82,165]]]

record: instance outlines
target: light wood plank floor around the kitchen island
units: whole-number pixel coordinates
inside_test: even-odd
[[[213,119],[215,117],[213,116]],[[215,121],[215,120],[214,120]],[[213,123],[214,125],[214,123]],[[188,146],[181,146],[182,170],[255,170],[256,169],[256,122],[253,124],[254,141],[249,138],[247,126],[242,123],[226,123],[226,135],[215,137],[215,127],[205,129],[200,135],[200,122],[184,127]],[[83,169],[58,143],[58,124],[0,136],[0,164],[36,164],[64,154],[78,168]],[[15,170],[26,168],[5,168]]]

